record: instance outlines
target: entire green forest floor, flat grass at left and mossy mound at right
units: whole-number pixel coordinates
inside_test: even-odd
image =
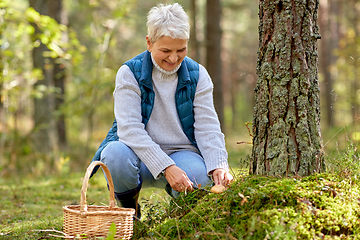
[[[176,201],[144,189],[133,239],[360,239],[357,148],[349,144],[327,166],[332,171],[280,178],[233,164],[235,181],[225,192],[196,190]],[[79,205],[83,177],[0,178],[0,239],[63,239],[62,207]],[[87,203],[109,204],[103,174],[89,180]]]

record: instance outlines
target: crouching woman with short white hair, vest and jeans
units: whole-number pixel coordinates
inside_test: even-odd
[[[115,121],[93,158],[108,166],[119,205],[137,209],[137,217],[142,187],[167,186],[176,197],[232,180],[212,81],[186,57],[187,14],[177,3],[160,4],[147,26],[147,51],[116,75]]]

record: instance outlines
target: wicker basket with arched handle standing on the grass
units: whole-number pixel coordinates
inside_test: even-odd
[[[110,190],[109,206],[87,206],[86,190],[90,174],[95,166],[100,165],[107,177]],[[133,234],[133,216],[135,209],[115,206],[114,184],[106,165],[100,161],[90,164],[86,170],[81,188],[80,206],[63,207],[64,233],[67,238],[106,237],[112,223],[116,225],[116,239],[131,239]]]

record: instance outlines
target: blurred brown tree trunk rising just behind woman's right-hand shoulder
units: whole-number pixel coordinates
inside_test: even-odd
[[[214,82],[214,103],[224,130],[224,99],[221,78],[221,5],[220,0],[206,3],[206,68]]]

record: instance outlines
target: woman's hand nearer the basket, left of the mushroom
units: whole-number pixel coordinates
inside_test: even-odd
[[[193,182],[191,182],[186,173],[176,165],[167,167],[164,175],[171,188],[175,191],[185,192],[193,190]]]

